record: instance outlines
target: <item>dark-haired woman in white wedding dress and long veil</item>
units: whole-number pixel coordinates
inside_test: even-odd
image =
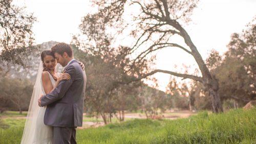
[[[42,51],[21,143],[53,143],[53,128],[44,124],[46,106],[39,107],[37,99],[42,94],[50,93],[60,81],[70,79],[65,71],[59,75],[56,73],[56,64],[50,50]],[[83,64],[80,65],[83,68]]]

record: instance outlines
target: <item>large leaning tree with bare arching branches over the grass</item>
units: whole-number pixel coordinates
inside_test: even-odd
[[[162,69],[152,70],[151,73],[147,73],[148,69],[145,67],[144,70],[134,70],[136,72],[135,76],[137,76],[134,81],[158,72],[199,81],[203,83],[209,92],[212,110],[214,112],[222,111],[218,93],[218,81],[210,73],[197,47],[183,28],[190,20],[189,16],[198,1],[94,0],[92,2],[98,8],[98,11],[83,18],[81,32],[86,34],[89,40],[97,38],[99,43],[102,42],[101,45],[104,45],[105,33],[117,34],[113,36],[113,39],[118,40],[118,38],[130,32],[129,40],[133,40],[129,43],[131,48],[130,57],[133,60],[126,65],[127,74],[134,70],[135,66],[143,67],[147,65],[148,61],[154,60],[154,57],[152,59],[150,54],[154,55],[155,52],[164,48],[178,47],[195,58],[202,75],[200,77]],[[134,11],[129,11],[131,9]],[[128,17],[128,15],[133,17]],[[173,41],[174,36],[182,38],[185,45],[182,46],[182,44],[177,44]],[[97,49],[99,48],[97,47]]]

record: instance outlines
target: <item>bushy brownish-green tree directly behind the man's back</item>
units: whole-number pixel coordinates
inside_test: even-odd
[[[101,115],[104,122],[108,123],[110,121],[109,115],[116,113],[116,107],[119,107],[120,104],[113,101],[119,88],[117,82],[127,77],[120,65],[117,64],[120,59],[117,59],[118,56],[114,54],[113,49],[110,50],[111,52],[102,50],[103,54],[98,54],[95,51],[79,50],[75,45],[72,45],[72,48],[74,56],[86,66],[88,77],[85,99],[86,112],[91,115]],[[106,49],[109,48],[106,47]]]

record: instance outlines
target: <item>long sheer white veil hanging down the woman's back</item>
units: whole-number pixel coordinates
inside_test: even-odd
[[[32,97],[29,104],[29,111],[26,118],[26,123],[23,131],[22,141],[21,143],[32,143],[33,137],[36,131],[36,118],[38,115],[38,111],[40,107],[38,106],[37,99],[43,94],[42,93],[42,86],[41,86],[41,74],[42,74],[42,61],[40,61],[36,81],[32,93]],[[37,130],[38,131],[38,130]]]

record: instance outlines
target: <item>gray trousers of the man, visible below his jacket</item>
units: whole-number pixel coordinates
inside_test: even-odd
[[[76,128],[53,127],[54,144],[76,144]]]

